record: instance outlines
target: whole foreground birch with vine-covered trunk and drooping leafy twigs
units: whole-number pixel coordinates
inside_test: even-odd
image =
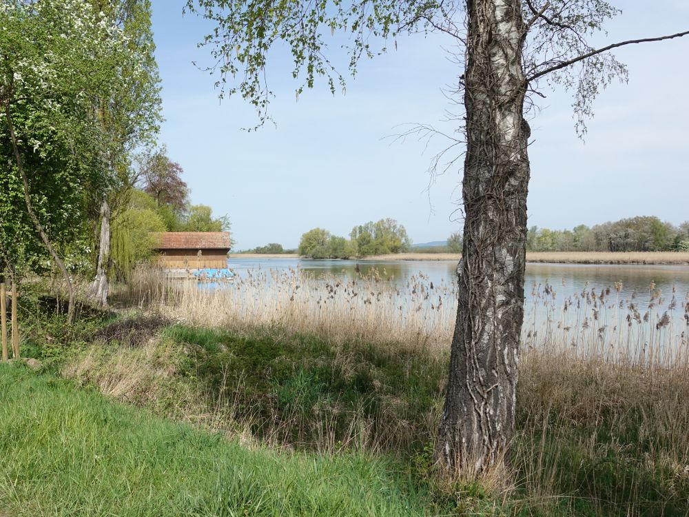
[[[349,34],[351,72],[402,34],[438,32],[462,48],[463,259],[435,455],[451,475],[500,468],[515,420],[531,133],[525,115],[533,95],[553,85],[573,92],[582,133],[600,88],[626,80],[610,50],[689,31],[594,48],[592,37],[620,13],[604,0],[189,0],[187,7],[215,22],[204,43],[217,60],[221,95],[253,104],[259,125],[269,118],[265,67],[276,45],[291,50],[302,81],[297,94],[318,77],[333,93],[344,88],[327,54],[336,31]]]

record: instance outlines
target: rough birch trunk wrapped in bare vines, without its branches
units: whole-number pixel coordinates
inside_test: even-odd
[[[451,476],[501,472],[524,319],[529,165],[520,0],[468,0],[464,245],[435,457]]]

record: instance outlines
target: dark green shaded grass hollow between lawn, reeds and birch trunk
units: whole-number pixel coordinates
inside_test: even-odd
[[[433,439],[425,424],[438,412],[445,358],[420,350],[351,342],[333,345],[313,334],[250,333],[174,325],[161,337],[185,347],[180,372],[209,394],[236,396],[235,417],[251,414],[252,430],[282,443],[368,445],[413,454]],[[398,425],[404,423],[404,425]],[[359,429],[364,426],[367,432]]]

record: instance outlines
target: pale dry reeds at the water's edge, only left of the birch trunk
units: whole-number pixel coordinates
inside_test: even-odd
[[[348,281],[334,275],[313,278],[290,268],[252,270],[223,285],[196,285],[151,272],[136,278],[128,296],[130,302],[192,325],[279,325],[340,340],[446,345],[455,310],[448,306],[453,287],[432,285],[419,274],[398,289],[388,278],[385,270]]]

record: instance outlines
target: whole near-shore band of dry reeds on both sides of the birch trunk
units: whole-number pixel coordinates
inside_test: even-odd
[[[386,270],[351,280],[315,278],[300,268],[250,270],[233,283],[201,284],[139,272],[129,303],[153,307],[191,325],[214,328],[278,325],[334,340],[397,343],[446,350],[457,298],[452,283],[433,283],[419,273],[403,286]],[[564,280],[563,280],[564,283]],[[585,287],[560,299],[553,285],[531,285],[524,307],[523,350],[580,360],[643,365],[689,364],[689,293],[648,292],[622,296],[621,283]]]

